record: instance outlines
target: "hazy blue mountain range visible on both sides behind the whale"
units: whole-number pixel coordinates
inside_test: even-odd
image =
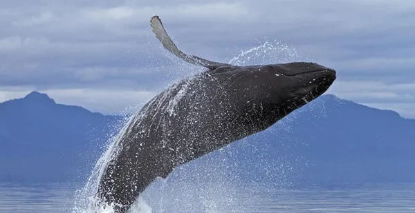
[[[31,92],[0,103],[0,181],[82,181],[121,116]],[[415,181],[415,120],[324,95],[170,179],[279,183]]]

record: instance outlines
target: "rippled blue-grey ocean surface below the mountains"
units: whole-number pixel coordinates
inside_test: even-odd
[[[415,212],[415,184],[216,186],[184,184],[163,192],[162,185],[154,190],[158,196],[147,193],[145,212]],[[68,183],[0,183],[0,212],[71,212],[75,190]]]

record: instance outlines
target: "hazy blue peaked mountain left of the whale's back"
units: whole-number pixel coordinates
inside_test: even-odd
[[[0,180],[66,181],[84,176],[119,119],[31,92],[0,103]]]

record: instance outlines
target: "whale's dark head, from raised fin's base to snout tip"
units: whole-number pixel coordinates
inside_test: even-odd
[[[336,72],[317,63],[293,62],[221,68],[223,84],[239,109],[272,125],[329,89]],[[219,78],[220,79],[220,78]],[[250,118],[252,120],[252,117]]]

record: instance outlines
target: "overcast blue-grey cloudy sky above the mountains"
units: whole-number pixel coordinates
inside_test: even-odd
[[[163,50],[154,14],[184,52],[313,61],[338,71],[327,93],[415,118],[413,0],[0,1],[0,101],[37,90],[115,114],[201,72]]]

